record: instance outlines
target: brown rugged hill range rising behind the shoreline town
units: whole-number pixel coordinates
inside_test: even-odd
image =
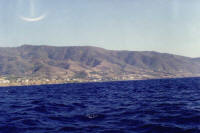
[[[105,76],[144,74],[153,77],[200,75],[200,58],[158,52],[113,51],[91,46],[0,48],[0,75],[73,77],[80,71]]]

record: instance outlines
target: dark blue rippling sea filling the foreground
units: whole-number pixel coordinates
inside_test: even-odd
[[[1,87],[0,133],[200,133],[200,78]]]

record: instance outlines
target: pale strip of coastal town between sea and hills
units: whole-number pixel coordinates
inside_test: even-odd
[[[15,77],[1,76],[0,86],[26,86],[26,85],[43,85],[43,84],[63,84],[63,83],[81,83],[81,82],[106,82],[106,81],[125,81],[125,80],[146,80],[159,78],[176,78],[176,77],[192,77],[188,74],[172,75],[169,73],[155,72],[138,72],[138,73],[119,73],[112,75],[112,71],[105,72],[85,72],[80,71],[74,75],[66,75],[66,77]],[[200,76],[200,75],[199,75]]]

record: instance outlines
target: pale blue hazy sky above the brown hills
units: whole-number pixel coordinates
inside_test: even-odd
[[[200,0],[0,0],[0,46],[22,44],[200,57]]]

